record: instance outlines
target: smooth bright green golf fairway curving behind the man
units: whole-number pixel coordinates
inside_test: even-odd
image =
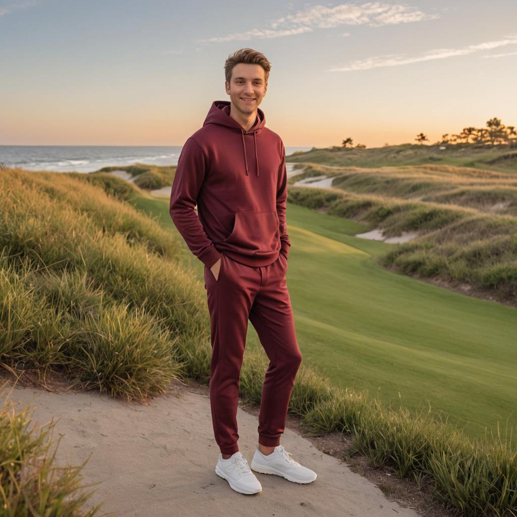
[[[168,200],[135,204],[176,232]],[[514,426],[517,311],[378,266],[373,257],[397,245],[353,236],[365,230],[287,205],[287,285],[305,364],[387,403],[430,404],[470,436],[497,420]],[[203,279],[202,263],[185,250]],[[260,346],[251,324],[247,346]]]

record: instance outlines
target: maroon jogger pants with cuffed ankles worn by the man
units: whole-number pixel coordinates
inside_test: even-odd
[[[294,380],[301,363],[282,253],[267,266],[252,267],[221,254],[219,275],[205,265],[212,356],[210,406],[216,442],[223,454],[239,450],[237,407],[248,320],[269,358],[258,416],[258,443],[280,445]]]

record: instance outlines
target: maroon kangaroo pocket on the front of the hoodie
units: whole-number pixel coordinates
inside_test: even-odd
[[[268,256],[280,240],[280,221],[276,211],[237,212],[232,233],[222,242],[247,255]]]

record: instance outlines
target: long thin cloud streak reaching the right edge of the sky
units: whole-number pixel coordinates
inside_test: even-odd
[[[327,69],[327,72],[351,72],[355,70],[369,70],[370,68],[378,68],[385,66],[409,65],[411,63],[419,63],[422,61],[430,61],[432,59],[447,59],[449,57],[464,56],[480,52],[483,50],[496,49],[498,47],[506,47],[507,45],[516,45],[517,36],[505,36],[505,39],[497,41],[486,41],[475,45],[467,45],[459,49],[434,49],[425,52],[423,55],[415,57],[406,57],[405,54],[384,54],[380,56],[368,57],[352,61],[346,66],[338,66]],[[502,55],[501,55],[502,56]]]

